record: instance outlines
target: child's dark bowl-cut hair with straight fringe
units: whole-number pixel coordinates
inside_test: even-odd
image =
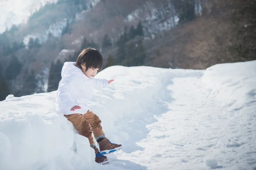
[[[84,49],[76,60],[76,67],[82,69],[82,64],[85,63],[86,70],[88,68],[98,68],[99,71],[103,68],[103,57],[98,50],[94,48]]]

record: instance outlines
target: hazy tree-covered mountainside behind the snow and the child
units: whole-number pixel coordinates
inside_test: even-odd
[[[13,26],[0,34],[0,100],[7,94],[56,90],[64,61],[76,61],[87,47],[101,51],[104,68],[148,65],[205,69],[218,63],[256,59],[255,1],[93,2],[59,0],[47,4],[30,17],[29,27]],[[74,20],[76,11],[85,11],[79,20]],[[61,16],[70,18],[61,27],[60,37],[49,32],[44,42],[30,37],[24,44],[21,35],[26,31],[43,32],[43,26],[49,27]],[[73,52],[61,58],[60,52],[65,49]]]

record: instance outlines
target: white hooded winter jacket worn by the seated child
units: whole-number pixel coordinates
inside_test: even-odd
[[[108,80],[88,78],[80,68],[73,65],[76,62],[65,62],[61,71],[61,81],[57,90],[58,109],[63,114],[84,114],[88,111],[88,102],[93,95],[93,88],[100,89],[108,86]],[[70,111],[74,106],[81,109]]]

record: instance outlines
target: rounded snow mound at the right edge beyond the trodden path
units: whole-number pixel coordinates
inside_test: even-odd
[[[213,65],[202,80],[212,96],[233,110],[256,102],[256,61]]]

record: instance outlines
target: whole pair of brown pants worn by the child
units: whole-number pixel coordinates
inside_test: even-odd
[[[85,136],[89,139],[90,146],[96,146],[95,142],[93,141],[93,135],[97,140],[97,137],[105,137],[105,133],[102,130],[101,120],[99,117],[91,111],[87,111],[84,115],[75,113],[70,115],[64,115],[67,120],[72,122],[72,124],[76,127],[79,131],[79,134]]]

